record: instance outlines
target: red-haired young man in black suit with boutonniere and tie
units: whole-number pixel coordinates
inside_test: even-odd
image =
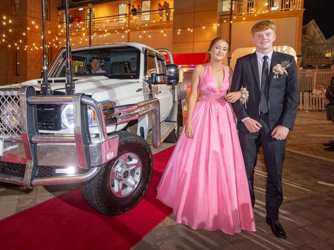
[[[299,84],[294,57],[276,52],[276,26],[269,20],[257,22],[252,28],[253,54],[236,61],[231,91],[247,87],[247,108],[241,102],[232,104],[238,119],[239,140],[242,147],[252,204],[254,168],[259,147],[263,148],[267,169],[266,222],[273,234],[285,239],[279,222],[279,207],[283,201],[282,165],[285,143],[293,128],[298,109]]]

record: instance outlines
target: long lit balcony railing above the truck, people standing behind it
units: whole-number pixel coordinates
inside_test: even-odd
[[[148,26],[154,24],[162,24],[173,22],[174,9],[170,10],[153,10],[143,11],[133,14],[121,14],[104,17],[91,18],[91,30],[92,31],[107,31],[110,29],[119,29],[119,32],[124,32],[128,28],[134,28],[139,26]],[[69,31],[73,32],[88,32],[89,31],[89,18],[81,21],[74,21],[69,24]],[[64,22],[59,23],[58,32],[65,33],[66,25]]]

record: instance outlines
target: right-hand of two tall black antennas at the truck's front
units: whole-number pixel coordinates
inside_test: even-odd
[[[69,41],[68,0],[65,0],[65,19],[66,19],[66,84],[65,84],[65,90],[66,90],[66,94],[72,95],[75,93],[75,85],[73,83],[71,45]]]

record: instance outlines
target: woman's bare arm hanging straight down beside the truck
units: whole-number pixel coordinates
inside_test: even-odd
[[[185,136],[189,138],[193,138],[193,126],[191,124],[191,118],[193,117],[193,112],[197,101],[197,88],[202,72],[203,66],[197,65],[193,71],[193,75],[191,78],[191,88],[187,108],[187,119],[185,120]]]

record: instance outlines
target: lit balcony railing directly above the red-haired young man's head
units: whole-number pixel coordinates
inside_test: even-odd
[[[302,0],[235,0],[233,1],[232,14],[245,15],[265,13],[271,11],[300,10]],[[222,12],[230,12],[231,1],[222,0]]]

